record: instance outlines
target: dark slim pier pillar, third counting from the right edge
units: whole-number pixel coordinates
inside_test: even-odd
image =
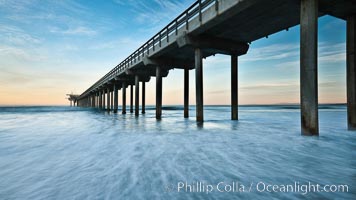
[[[231,119],[238,120],[238,60],[231,55]]]

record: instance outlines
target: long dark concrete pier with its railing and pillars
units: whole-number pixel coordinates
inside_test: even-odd
[[[196,76],[196,120],[204,121],[203,58],[231,56],[231,119],[238,119],[238,56],[249,43],[300,24],[301,132],[318,135],[317,35],[318,17],[332,15],[347,21],[348,127],[356,129],[356,4],[353,0],[198,0],[78,97],[79,106],[126,113],[126,88],[130,87],[130,112],[142,113],[145,83],[156,80],[156,118],[162,115],[162,78],[169,70],[184,71],[184,117],[189,117],[189,70]],[[135,100],[133,89],[135,88]],[[106,99],[106,100],[105,100]],[[135,108],[133,108],[133,101]]]

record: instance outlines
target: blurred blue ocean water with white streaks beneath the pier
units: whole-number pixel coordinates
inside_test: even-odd
[[[356,199],[345,106],[320,107],[319,137],[300,135],[296,106],[240,107],[239,121],[205,106],[204,124],[190,114],[2,107],[0,199]]]

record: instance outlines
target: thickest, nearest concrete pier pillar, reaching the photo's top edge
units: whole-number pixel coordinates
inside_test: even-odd
[[[318,0],[301,0],[300,103],[302,135],[319,135]]]

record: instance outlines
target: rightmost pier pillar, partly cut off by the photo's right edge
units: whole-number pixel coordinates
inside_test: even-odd
[[[347,124],[349,130],[356,130],[356,15],[347,18]]]

